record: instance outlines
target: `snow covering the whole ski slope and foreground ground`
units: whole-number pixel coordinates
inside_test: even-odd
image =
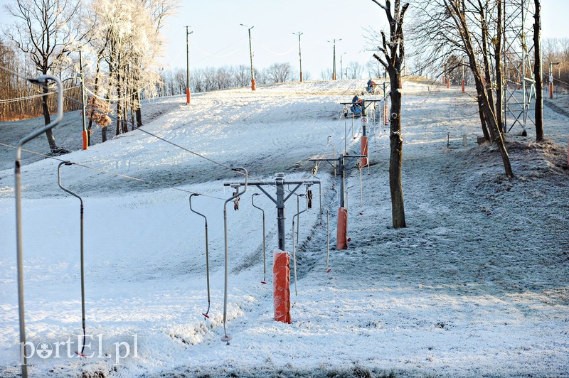
[[[362,171],[361,197],[353,164],[346,179],[349,249],[331,247],[327,274],[339,182],[322,163],[322,212],[313,187],[314,207],[300,215],[293,323],[275,323],[270,261],[276,212],[265,195],[255,198],[267,215],[269,284],[263,285],[262,220],[250,205],[251,194],[260,191],[250,187],[238,212],[228,204],[233,340],[220,341],[223,204],[231,195],[223,183],[243,180],[225,166],[248,168],[251,180],[277,172],[312,179],[309,157],[331,157],[345,146],[358,153],[359,120],[352,128],[351,119],[340,117],[339,103],[363,85],[338,80],[226,90],[193,95],[191,106],[183,97],[157,99],[144,108],[152,120],[143,129],[185,150],[133,131],[62,156],[123,175],[62,168],[63,184],[85,202],[86,330],[92,338],[85,350],[91,357],[83,360],[73,354],[82,333],[79,203],[58,188],[58,161],[24,160],[27,340],[40,348],[59,345],[57,357],[55,351],[39,357],[38,350],[30,358],[31,376],[567,375],[567,104],[560,97],[553,101],[561,112],[546,107],[545,144],[533,143],[531,128],[526,138],[521,129],[511,130],[516,178],[508,180],[497,149],[476,144],[472,97],[413,81],[403,87],[408,227],[390,227],[388,134],[385,126],[370,126],[372,163]],[[5,126],[12,132],[4,133]],[[14,129],[23,126],[0,128],[1,142],[14,145]],[[54,132],[59,141],[71,140],[65,128]],[[46,141],[39,142],[28,148],[43,152]],[[13,376],[20,372],[14,150],[0,147],[0,157],[6,168],[0,171],[0,375]],[[208,217],[209,319],[201,315],[208,306],[204,222],[190,212],[188,192],[203,194],[192,205]],[[292,196],[286,210],[290,252],[294,202]],[[65,344],[68,338],[73,341]]]

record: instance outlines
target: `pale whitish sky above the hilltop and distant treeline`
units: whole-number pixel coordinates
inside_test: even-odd
[[[8,4],[12,0],[0,0]],[[542,0],[543,38],[567,37],[568,0]],[[2,7],[0,23],[10,23]],[[331,69],[336,39],[336,70],[352,61],[373,60],[363,36],[366,29],[385,26],[383,9],[371,0],[181,0],[181,7],[164,26],[164,64],[186,68],[186,28],[191,26],[190,69],[250,65],[247,28],[251,29],[253,65],[290,63],[299,68],[298,36],[302,32],[302,70],[314,80]],[[339,74],[338,74],[339,75]]]

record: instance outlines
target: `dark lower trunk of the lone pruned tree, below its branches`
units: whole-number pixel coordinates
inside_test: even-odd
[[[401,76],[397,70],[390,70],[390,155],[389,189],[391,192],[391,218],[393,228],[407,227],[405,224],[405,206],[403,204],[403,184],[401,167],[403,166],[403,136],[401,136]]]

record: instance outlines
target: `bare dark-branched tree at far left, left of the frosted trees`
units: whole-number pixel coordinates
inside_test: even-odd
[[[42,75],[53,73],[69,64],[68,56],[85,39],[80,27],[80,1],[76,0],[16,0],[6,6],[16,18],[14,27],[5,30],[16,46],[31,56],[36,70]],[[45,124],[50,123],[48,87],[43,87],[42,109]],[[65,153],[58,148],[51,130],[46,131],[51,153]]]

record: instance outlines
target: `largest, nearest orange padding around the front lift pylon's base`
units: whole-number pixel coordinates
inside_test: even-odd
[[[275,321],[292,323],[290,317],[290,257],[289,253],[275,249],[272,254],[272,285]]]

